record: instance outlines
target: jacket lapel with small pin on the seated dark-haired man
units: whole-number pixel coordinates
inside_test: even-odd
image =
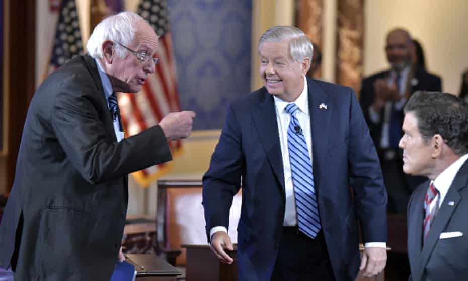
[[[450,218],[452,217],[458,203],[461,200],[459,191],[466,187],[466,181],[468,180],[468,161],[461,166],[460,170],[453,179],[450,188],[448,189],[447,195],[445,195],[444,201],[434,218],[431,229],[427,235],[426,241],[424,242],[423,250],[421,253],[421,262],[419,265],[420,275],[424,273],[429,257],[434,250],[435,244],[439,240],[440,233],[446,228]],[[453,202],[453,205],[448,205],[447,202]]]

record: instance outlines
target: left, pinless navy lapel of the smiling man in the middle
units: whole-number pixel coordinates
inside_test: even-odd
[[[281,185],[282,194],[285,196],[283,158],[281,156],[275,102],[265,88],[259,91],[260,98],[257,106],[255,106],[252,111],[252,117],[258,131],[260,142],[262,143],[273,172]]]

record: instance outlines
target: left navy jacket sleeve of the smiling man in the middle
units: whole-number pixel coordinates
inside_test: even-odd
[[[203,207],[208,241],[211,228],[228,228],[229,209],[232,198],[241,186],[244,162],[241,129],[231,105],[219,142],[211,156],[210,168],[203,176]]]

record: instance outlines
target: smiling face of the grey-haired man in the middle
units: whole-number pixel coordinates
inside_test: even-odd
[[[289,40],[263,42],[260,46],[260,77],[268,93],[292,102],[304,88],[309,58],[295,61],[289,52]]]

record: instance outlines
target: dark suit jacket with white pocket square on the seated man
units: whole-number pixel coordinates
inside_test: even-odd
[[[455,176],[423,246],[424,197],[429,181],[414,191],[408,205],[408,256],[412,281],[468,278],[468,161]],[[450,203],[449,202],[453,202]],[[461,237],[439,239],[442,232]]]

